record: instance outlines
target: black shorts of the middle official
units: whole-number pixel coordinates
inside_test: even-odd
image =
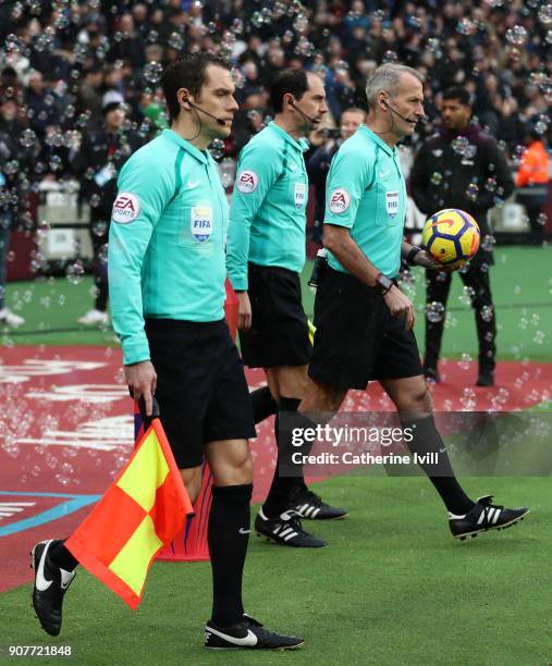
[[[249,368],[306,366],[312,347],[298,274],[254,263],[248,273],[253,325],[240,331],[244,363]]]

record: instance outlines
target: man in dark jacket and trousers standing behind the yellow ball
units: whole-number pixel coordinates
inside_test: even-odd
[[[459,208],[470,213],[481,230],[481,247],[459,276],[469,289],[476,313],[479,341],[478,386],[494,385],[496,320],[492,304],[489,267],[493,237],[489,210],[513,192],[514,183],[504,153],[494,138],[470,123],[471,100],[461,87],[443,94],[440,131],[424,141],[410,174],[416,206],[426,215],[443,208]],[[427,271],[427,304],[446,306],[451,273]],[[440,381],[438,371],[444,310],[430,308],[426,317],[426,378]],[[437,320],[437,321],[436,321]]]

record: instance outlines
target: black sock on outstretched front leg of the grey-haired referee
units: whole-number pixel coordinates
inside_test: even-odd
[[[407,444],[412,453],[416,453],[418,457],[437,454],[428,457],[429,460],[434,459],[437,462],[420,462],[419,465],[441,495],[446,508],[457,516],[467,514],[473,508],[474,503],[456,481],[444,442],[436,428],[433,416],[430,415],[414,421],[401,420],[401,423],[403,429],[413,429],[414,439]]]

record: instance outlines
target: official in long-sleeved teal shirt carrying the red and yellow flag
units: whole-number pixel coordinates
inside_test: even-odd
[[[237,110],[225,61],[186,55],[162,76],[171,130],[135,152],[119,176],[109,239],[113,324],[126,383],[161,421],[192,501],[204,454],[212,471],[208,543],[213,604],[206,648],[296,648],[244,613],[255,436],[243,365],[224,321],[228,205],[207,150],[230,136]],[[61,606],[78,564],[62,541],[35,546],[33,595],[42,627],[61,629]],[[37,584],[42,578],[53,584]]]

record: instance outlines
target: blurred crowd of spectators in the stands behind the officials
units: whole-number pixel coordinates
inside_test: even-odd
[[[547,0],[29,0],[0,4],[0,136],[8,146],[0,151],[0,207],[4,226],[11,212],[12,229],[36,227],[25,194],[40,182],[77,176],[90,207],[100,205],[103,193],[83,187],[98,173],[78,171],[79,146],[118,103],[125,118],[115,162],[125,158],[121,146],[168,126],[161,71],[183,52],[213,51],[234,64],[240,111],[231,138],[211,147],[226,187],[238,151],[272,115],[268,89],[284,66],[322,76],[330,126],[346,108],[366,107],[364,85],[378,64],[401,62],[422,73],[427,122],[405,141],[406,172],[438,126],[440,95],[452,85],[473,94],[474,121],[499,140],[513,171],[528,127],[552,144]]]

